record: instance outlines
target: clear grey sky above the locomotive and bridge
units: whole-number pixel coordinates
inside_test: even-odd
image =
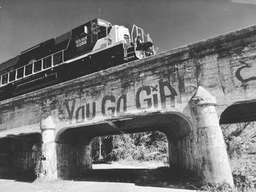
[[[0,63],[94,18],[141,26],[159,52],[256,25],[255,0],[0,0],[0,7]]]

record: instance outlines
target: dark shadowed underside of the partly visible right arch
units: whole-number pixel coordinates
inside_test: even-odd
[[[256,121],[256,100],[236,102],[220,115],[219,124]]]

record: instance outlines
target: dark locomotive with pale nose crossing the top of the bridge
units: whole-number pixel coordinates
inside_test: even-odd
[[[97,18],[0,64],[0,101],[154,54],[142,28]]]

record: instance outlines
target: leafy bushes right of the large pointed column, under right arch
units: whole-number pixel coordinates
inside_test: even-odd
[[[222,126],[230,156],[235,191],[256,191],[255,123],[236,123]]]

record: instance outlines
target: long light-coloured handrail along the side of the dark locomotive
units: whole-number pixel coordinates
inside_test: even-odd
[[[20,66],[20,67],[17,68],[17,69],[14,69],[14,70],[12,70],[12,71],[10,71],[10,72],[7,72],[7,73],[5,73],[5,74],[0,75],[0,87],[4,87],[4,86],[8,85],[10,82],[15,82],[15,80],[22,80],[22,79],[25,78],[25,77],[29,77],[29,76],[31,76],[31,75],[33,75],[33,74],[37,74],[37,73],[39,73],[39,72],[44,72],[44,71],[46,71],[46,70],[48,70],[48,69],[53,69],[53,67],[56,67],[56,66],[59,66],[59,65],[63,64],[63,63],[64,63],[64,51],[67,50],[67,48],[69,47],[70,41],[71,41],[71,38],[69,39],[69,42],[68,42],[68,44],[67,44],[67,47],[66,47],[64,50],[60,50],[60,51],[58,51],[58,52],[56,52],[56,53],[53,53],[53,54],[51,54],[51,55],[47,55],[47,56],[45,56],[45,57],[43,57],[43,58],[38,59],[37,61],[34,61],[32,64],[26,64],[26,65],[24,65],[24,66]],[[59,62],[59,64],[53,65],[53,55],[57,55],[58,53],[62,53],[62,54],[61,54],[61,62]],[[49,66],[49,67],[46,67],[46,68],[44,69],[44,66],[43,66],[44,62],[43,62],[43,60],[44,60],[45,58],[49,58],[49,57],[50,57],[50,66]],[[34,64],[37,63],[38,61],[41,61],[41,68],[39,69],[39,71],[34,72]],[[26,75],[26,66],[29,66],[29,65],[32,65],[31,73]],[[23,75],[22,75],[22,77],[18,77],[18,70],[19,70],[19,69],[23,69]],[[12,73],[12,72],[15,72],[15,78],[14,78],[14,80],[11,80],[11,81],[10,81],[10,73]],[[4,75],[7,75],[7,82],[2,83],[2,78],[4,77]]]

